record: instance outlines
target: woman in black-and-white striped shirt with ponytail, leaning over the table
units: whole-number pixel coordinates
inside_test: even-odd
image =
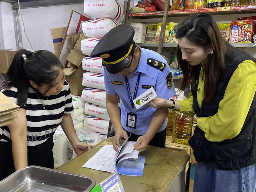
[[[1,92],[20,106],[14,123],[0,127],[0,180],[22,167],[54,168],[53,134],[61,125],[76,154],[89,144],[76,136],[71,93],[57,57],[46,50],[19,50]]]

